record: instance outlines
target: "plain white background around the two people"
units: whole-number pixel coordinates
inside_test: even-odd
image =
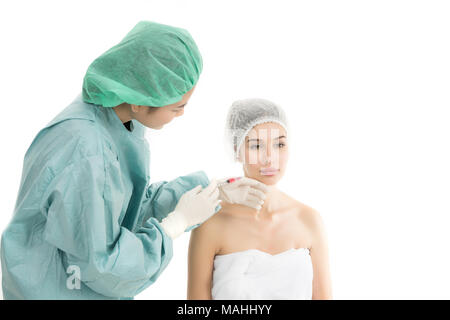
[[[261,97],[292,127],[280,189],[316,208],[335,299],[449,299],[447,1],[3,1],[0,229],[25,152],[80,92],[97,56],[140,20],[182,27],[204,71],[185,115],[149,130],[152,182],[241,175],[228,107]],[[189,234],[137,299],[186,297]]]

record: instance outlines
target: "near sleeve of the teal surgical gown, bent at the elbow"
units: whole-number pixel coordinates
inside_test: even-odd
[[[66,269],[79,268],[82,285],[105,296],[133,297],[165,269],[172,240],[152,216],[133,231],[120,225],[126,199],[119,177],[118,164],[100,155],[57,173],[44,193],[44,240],[59,249]],[[150,199],[160,207],[153,210],[164,207],[162,194],[171,193],[157,190]]]

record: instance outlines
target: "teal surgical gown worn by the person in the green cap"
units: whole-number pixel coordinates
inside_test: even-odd
[[[26,152],[2,234],[5,299],[132,298],[161,274],[172,240],[161,220],[209,184],[198,171],[150,184],[145,127],[78,96]]]

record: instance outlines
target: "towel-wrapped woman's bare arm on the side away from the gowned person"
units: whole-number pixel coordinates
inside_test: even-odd
[[[311,227],[310,255],[313,264],[313,300],[331,300],[331,275],[325,225],[319,212],[308,215]]]

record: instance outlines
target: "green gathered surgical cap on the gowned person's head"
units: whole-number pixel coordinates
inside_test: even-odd
[[[187,30],[141,21],[91,63],[83,81],[83,100],[104,107],[124,102],[166,106],[193,88],[202,68],[202,57]]]

